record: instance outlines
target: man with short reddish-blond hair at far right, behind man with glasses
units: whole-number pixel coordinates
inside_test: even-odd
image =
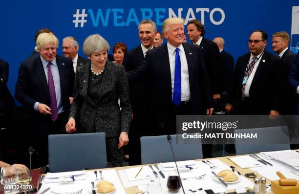
[[[293,62],[296,58],[295,53],[293,53],[289,48],[289,34],[285,31],[276,32],[272,35],[272,49],[278,54],[284,67],[284,77],[287,78],[293,66]],[[295,112],[295,101],[296,96],[290,91],[288,83],[285,82],[283,86],[283,99],[284,105],[281,107],[282,114],[294,114]]]

